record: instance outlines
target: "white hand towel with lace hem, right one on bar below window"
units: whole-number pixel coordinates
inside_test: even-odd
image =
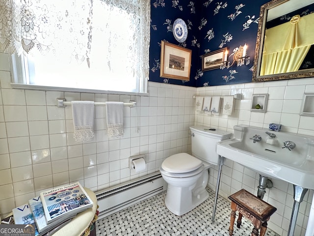
[[[106,102],[108,137],[120,137],[123,129],[123,102]]]

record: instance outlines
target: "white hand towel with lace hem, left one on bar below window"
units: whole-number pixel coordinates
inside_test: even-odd
[[[72,101],[72,115],[74,124],[74,140],[86,142],[94,137],[94,102]]]

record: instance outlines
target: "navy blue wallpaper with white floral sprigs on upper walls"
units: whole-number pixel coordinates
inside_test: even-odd
[[[150,81],[192,87],[251,82],[260,7],[267,1],[151,0]],[[188,28],[183,43],[172,32],[177,18]],[[161,40],[192,50],[190,81],[159,77]],[[232,64],[233,55],[245,44],[247,64],[202,72],[202,55],[227,47]]]

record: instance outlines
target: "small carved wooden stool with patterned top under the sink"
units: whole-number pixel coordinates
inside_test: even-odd
[[[232,236],[234,233],[235,211],[238,211],[239,217],[236,221],[237,228],[240,228],[242,215],[244,215],[254,225],[252,236],[258,236],[260,229],[261,236],[264,236],[267,229],[267,221],[277,208],[247,192],[245,189],[237,191],[228,198],[231,200],[232,209],[229,235]]]

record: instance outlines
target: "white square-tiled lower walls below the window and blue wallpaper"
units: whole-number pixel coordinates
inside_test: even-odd
[[[268,127],[280,122],[283,130],[314,136],[314,118],[300,117],[304,92],[314,92],[313,79],[189,88],[149,82],[149,96],[94,94],[62,91],[12,89],[7,55],[0,54],[0,214],[24,204],[42,189],[80,181],[99,190],[155,172],[164,158],[190,151],[188,127],[201,124],[233,131],[236,124]],[[232,95],[232,116],[195,113],[195,94]],[[254,93],[268,93],[266,113],[250,111]],[[125,107],[125,135],[108,139],[105,107],[95,107],[95,138],[79,144],[73,139],[71,107],[58,108],[56,98],[93,101],[136,100],[134,108]],[[129,169],[129,156],[144,154],[147,169],[135,173]],[[209,187],[215,189],[217,168],[211,168]],[[227,198],[245,188],[257,192],[259,175],[226,160],[220,194]],[[277,207],[269,228],[287,234],[293,205],[292,185],[273,179],[264,200]],[[313,191],[300,206],[295,235],[305,235]]]

